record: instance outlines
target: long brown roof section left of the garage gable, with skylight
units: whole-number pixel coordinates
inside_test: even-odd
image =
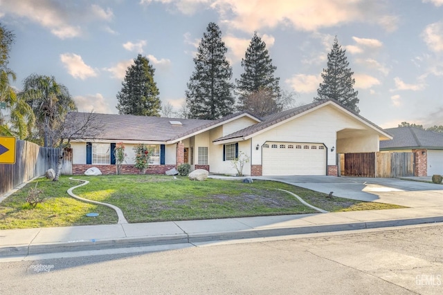
[[[66,133],[71,134],[84,124],[88,117],[93,118],[93,124],[101,126],[101,131],[93,136],[96,140],[138,140],[152,142],[168,142],[186,137],[192,133],[208,129],[211,126],[221,124],[235,117],[249,115],[257,121],[255,117],[247,111],[228,115],[219,120],[197,120],[197,119],[177,119],[167,117],[147,117],[136,115],[115,115],[115,114],[99,114],[99,113],[69,113],[66,117]],[[181,126],[174,126],[170,121],[179,121]],[[91,131],[89,131],[91,133]],[[91,138],[88,135],[75,135],[75,139]]]

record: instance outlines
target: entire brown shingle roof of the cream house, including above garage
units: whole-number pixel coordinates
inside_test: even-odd
[[[93,137],[89,135],[79,134],[71,137],[72,140],[83,140],[94,138],[96,140],[135,140],[135,141],[146,141],[146,142],[174,142],[186,138],[189,135],[203,132],[207,129],[218,126],[219,124],[224,124],[229,120],[233,120],[236,117],[241,117],[247,115],[257,120],[257,124],[246,127],[235,133],[231,133],[224,137],[220,137],[215,141],[229,140],[233,138],[246,137],[248,135],[253,135],[258,131],[262,131],[274,124],[278,124],[284,120],[287,120],[293,116],[305,113],[306,111],[320,106],[327,102],[333,102],[338,106],[341,106],[347,111],[349,109],[345,108],[343,105],[336,101],[326,99],[320,102],[313,102],[311,104],[306,104],[305,106],[299,106],[297,108],[292,108],[287,111],[282,111],[280,113],[274,113],[268,115],[264,118],[259,118],[248,111],[242,111],[235,113],[233,115],[228,115],[219,120],[197,120],[197,119],[177,119],[177,118],[167,118],[167,117],[147,117],[147,116],[136,116],[136,115],[114,115],[114,114],[98,114],[98,113],[69,113],[66,117],[66,133],[72,134],[75,128],[84,124],[84,121],[88,117],[93,118],[93,124],[97,126],[102,126],[100,133],[97,133]],[[365,121],[368,125],[374,127],[381,132],[381,129],[376,124],[366,120],[359,114],[350,111],[356,117]],[[170,124],[170,121],[179,121],[181,126],[174,126]],[[91,133],[91,131],[88,131]],[[388,134],[388,133],[386,133]],[[388,134],[389,135],[389,134]]]

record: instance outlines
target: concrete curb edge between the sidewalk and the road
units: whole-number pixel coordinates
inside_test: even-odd
[[[145,236],[103,240],[78,240],[73,242],[54,242],[45,244],[14,245],[0,247],[0,256],[10,258],[34,254],[53,254],[60,252],[91,251],[114,248],[145,247],[154,245],[173,245],[197,242],[215,242],[221,240],[241,240],[246,238],[268,238],[298,234],[327,233],[356,229],[377,229],[381,227],[399,227],[443,222],[443,216],[426,218],[408,218],[399,220],[380,220],[371,222],[352,222],[334,225],[308,225],[300,227],[282,227],[274,229],[248,229],[244,231],[217,231],[195,234],[174,234],[163,236]]]

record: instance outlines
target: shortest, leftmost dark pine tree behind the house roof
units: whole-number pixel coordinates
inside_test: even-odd
[[[121,115],[160,116],[159,88],[154,82],[154,68],[142,55],[126,70],[123,88],[117,94]]]

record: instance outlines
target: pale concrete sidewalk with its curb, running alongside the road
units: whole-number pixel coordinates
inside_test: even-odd
[[[443,222],[443,207],[0,231],[0,258]]]

